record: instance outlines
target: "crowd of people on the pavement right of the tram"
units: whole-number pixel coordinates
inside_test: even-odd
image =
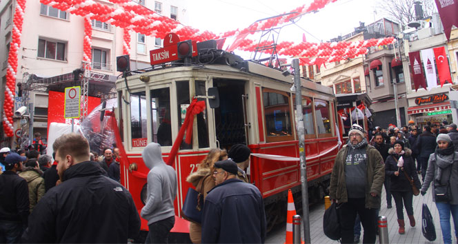
[[[375,243],[382,187],[388,209],[395,200],[398,232],[405,234],[404,208],[409,225],[417,225],[412,187],[424,196],[430,185],[444,243],[452,243],[450,216],[458,239],[458,187],[454,187],[458,185],[457,149],[457,125],[447,121],[428,123],[423,128],[413,121],[400,129],[376,126],[368,133],[352,125],[347,144],[337,154],[330,181],[330,199],[339,206],[341,242],[359,243],[362,224],[363,243]],[[446,200],[436,196],[435,188],[439,187],[445,187]]]

